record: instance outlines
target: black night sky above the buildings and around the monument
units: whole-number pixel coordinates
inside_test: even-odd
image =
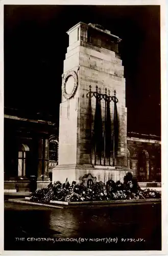
[[[160,135],[159,6],[5,6],[5,106],[58,119],[66,31],[80,21],[123,39],[128,131]]]

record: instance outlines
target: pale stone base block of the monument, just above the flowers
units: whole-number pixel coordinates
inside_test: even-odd
[[[60,181],[64,183],[66,178],[71,182],[76,181],[77,183],[82,182],[84,175],[91,174],[96,178],[96,181],[102,181],[106,184],[108,180],[121,181],[123,182],[124,176],[133,171],[126,166],[102,166],[102,165],[91,165],[91,164],[68,164],[68,165],[57,165],[53,168],[53,181]]]

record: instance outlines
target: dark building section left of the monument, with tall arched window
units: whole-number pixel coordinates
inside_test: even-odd
[[[52,146],[56,143],[55,123],[38,115],[28,118],[6,108],[4,117],[5,191],[46,187],[51,182],[49,158],[57,161],[57,149]]]

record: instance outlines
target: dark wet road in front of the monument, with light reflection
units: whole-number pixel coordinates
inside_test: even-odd
[[[161,249],[161,204],[55,209],[5,202],[4,218],[6,250]]]

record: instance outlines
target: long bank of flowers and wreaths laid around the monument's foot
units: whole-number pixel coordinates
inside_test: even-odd
[[[161,198],[160,193],[152,189],[141,189],[137,179],[132,177],[131,173],[127,173],[124,182],[114,182],[108,180],[106,185],[100,182],[88,182],[87,186],[82,182],[77,184],[73,181],[70,183],[60,181],[54,184],[50,183],[46,188],[36,190],[31,195],[31,201],[34,202],[82,202],[82,201],[108,201],[108,200],[130,200],[130,199],[152,199]]]

